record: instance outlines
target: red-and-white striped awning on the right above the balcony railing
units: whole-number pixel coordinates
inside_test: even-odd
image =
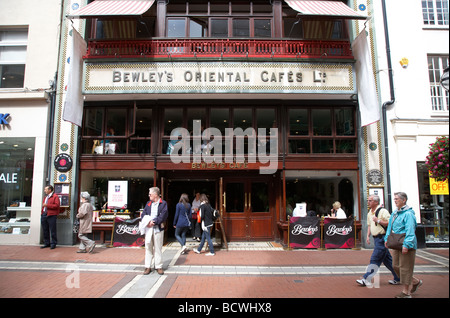
[[[322,16],[341,19],[366,20],[364,16],[341,1],[309,1],[284,0],[292,9],[300,12],[302,16]]]

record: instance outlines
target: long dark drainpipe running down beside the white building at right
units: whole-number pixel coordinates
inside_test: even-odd
[[[391,100],[383,103],[382,112],[383,112],[383,134],[384,134],[384,155],[386,158],[386,191],[387,191],[387,202],[389,211],[392,211],[392,194],[391,194],[391,170],[389,166],[389,146],[388,146],[388,136],[387,136],[387,107],[391,106],[395,103],[395,92],[394,92],[394,81],[392,75],[392,61],[391,61],[391,46],[389,44],[389,30],[387,24],[387,14],[386,14],[386,0],[382,0],[382,8],[383,8],[383,22],[384,22],[384,37],[386,41],[386,57],[388,63],[388,71],[389,71],[389,87]]]

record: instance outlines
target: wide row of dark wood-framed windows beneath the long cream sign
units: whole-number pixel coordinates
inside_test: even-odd
[[[236,138],[244,139],[244,151],[248,153],[248,137],[253,137],[237,137],[234,134],[230,145],[233,149],[225,149],[226,128],[241,128],[243,131],[251,128],[252,134],[257,134],[258,128],[265,128],[267,138],[270,128],[278,128],[280,136],[286,134],[287,155],[357,153],[355,108],[350,106],[288,107],[285,129],[278,124],[277,118],[281,110],[277,111],[277,107],[269,105],[252,107],[239,104],[231,106],[226,103],[220,107],[198,104],[184,107],[160,106],[162,107],[154,108],[145,102],[88,104],[84,112],[82,153],[169,155],[173,150],[170,143],[175,142],[171,141],[171,133],[176,128],[184,128],[189,132],[187,138],[190,138],[191,146],[194,138],[207,143],[194,131],[196,123],[201,133],[210,127],[220,131],[222,154],[230,151],[235,153]],[[152,140],[155,141],[153,150]],[[279,152],[282,140],[284,138],[279,139]],[[190,149],[189,153],[193,154],[195,151]]]

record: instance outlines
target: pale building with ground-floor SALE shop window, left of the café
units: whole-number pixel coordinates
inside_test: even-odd
[[[60,1],[0,2],[0,244],[40,241],[60,22]]]

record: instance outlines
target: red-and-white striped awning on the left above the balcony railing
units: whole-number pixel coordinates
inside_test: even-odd
[[[144,14],[155,0],[95,0],[68,14],[68,18],[96,18],[111,16],[139,16]]]

